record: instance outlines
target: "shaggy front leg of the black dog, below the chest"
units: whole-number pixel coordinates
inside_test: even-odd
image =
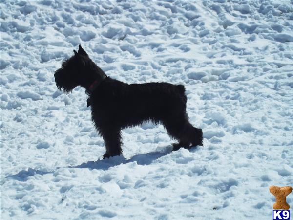
[[[106,147],[106,153],[103,156],[104,159],[122,154],[120,129],[109,128],[106,131],[103,131],[102,136]]]

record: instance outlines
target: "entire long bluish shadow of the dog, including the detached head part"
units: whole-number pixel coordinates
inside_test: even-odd
[[[102,159],[97,161],[88,161],[86,163],[82,163],[77,166],[68,166],[68,167],[57,167],[57,170],[60,168],[89,168],[89,169],[97,169],[97,170],[108,170],[110,167],[114,167],[120,164],[126,164],[135,162],[139,165],[149,165],[154,160],[165,156],[172,152],[172,149],[167,147],[163,151],[159,152],[150,152],[146,154],[138,154],[130,159],[126,159],[123,156],[114,156],[109,159]],[[28,177],[35,175],[45,175],[45,174],[53,174],[55,171],[41,171],[33,168],[28,168],[28,170],[21,170],[19,173],[15,175],[6,176],[5,178],[13,178],[19,180],[21,182],[27,181]]]

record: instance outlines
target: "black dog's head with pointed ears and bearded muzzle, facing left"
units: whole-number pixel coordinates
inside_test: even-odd
[[[89,80],[87,66],[93,63],[79,45],[78,52],[73,50],[74,55],[62,63],[62,67],[55,71],[54,77],[56,86],[59,90],[68,93],[77,86],[86,87]]]

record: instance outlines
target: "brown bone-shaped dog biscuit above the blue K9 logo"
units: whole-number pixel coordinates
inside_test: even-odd
[[[292,192],[291,186],[270,186],[270,192],[276,197],[276,203],[273,204],[273,209],[288,210],[290,205],[286,202],[286,197]]]

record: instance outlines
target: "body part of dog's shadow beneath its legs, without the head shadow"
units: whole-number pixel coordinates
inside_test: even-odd
[[[97,161],[88,161],[86,163],[82,163],[78,166],[69,166],[67,168],[90,168],[97,170],[107,170],[110,167],[117,166],[120,164],[132,163],[136,162],[138,165],[149,165],[156,159],[159,159],[162,156],[165,156],[172,152],[171,148],[166,148],[161,152],[150,152],[146,154],[138,154],[130,159],[126,159],[123,156],[114,156],[109,159],[97,160]]]

